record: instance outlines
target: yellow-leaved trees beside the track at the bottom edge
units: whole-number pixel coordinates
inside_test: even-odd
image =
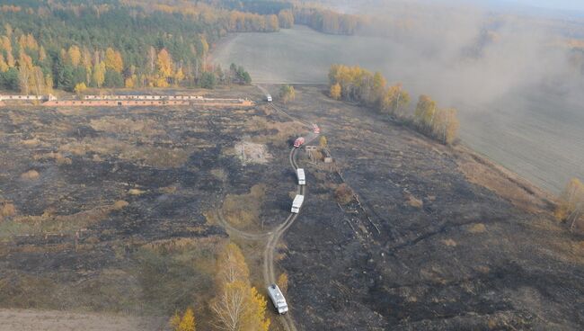
[[[251,285],[250,271],[241,249],[229,243],[217,260],[215,288],[217,295],[209,303],[212,327],[227,331],[268,331],[267,301]],[[279,280],[282,281],[282,280]],[[195,331],[192,309],[176,312],[169,324],[174,331]]]

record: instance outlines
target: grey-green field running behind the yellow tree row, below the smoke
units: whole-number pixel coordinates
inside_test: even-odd
[[[277,33],[231,36],[219,45],[214,60],[222,66],[243,65],[259,84],[326,84],[333,63],[379,70],[390,83],[403,83],[414,103],[423,93],[441,101],[441,106],[456,107],[466,145],[540,187],[560,192],[571,177],[584,178],[580,103],[537,89],[503,91],[483,103],[452,101],[456,97],[473,100],[473,94],[447,91],[452,76],[420,77],[420,67],[431,70],[431,64],[421,56],[403,57],[404,53],[403,46],[389,40],[326,35],[296,26]],[[481,93],[478,88],[474,92]]]

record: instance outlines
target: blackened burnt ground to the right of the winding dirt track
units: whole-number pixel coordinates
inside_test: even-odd
[[[296,95],[285,109],[319,123],[341,172],[305,163],[308,197],[285,236],[280,265],[301,328],[582,329],[584,242],[544,196],[501,178],[493,186],[518,192],[505,200],[469,182],[473,158],[460,149],[317,87]],[[341,177],[363,209],[334,201]]]

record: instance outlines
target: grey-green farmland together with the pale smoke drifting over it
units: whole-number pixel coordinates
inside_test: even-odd
[[[379,70],[390,84],[403,83],[414,104],[429,94],[442,107],[455,106],[466,144],[538,185],[559,192],[571,177],[583,177],[584,85],[562,33],[579,36],[584,24],[468,6],[418,9],[378,9],[387,14],[390,28],[382,31],[389,38],[296,26],[236,35],[215,58],[242,63],[256,83],[327,83],[333,63]]]

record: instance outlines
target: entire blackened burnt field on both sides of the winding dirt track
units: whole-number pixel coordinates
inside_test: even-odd
[[[318,123],[335,159],[299,153],[305,206],[276,255],[299,329],[581,329],[584,239],[553,221],[544,192],[321,87],[296,94],[282,108]],[[215,256],[229,239],[217,211],[250,233],[286,219],[288,141],[305,131],[261,102],[4,108],[0,309],[116,313],[155,330],[193,305],[208,329]],[[343,182],[358,201],[338,203]],[[265,243],[234,240],[264,289]]]

